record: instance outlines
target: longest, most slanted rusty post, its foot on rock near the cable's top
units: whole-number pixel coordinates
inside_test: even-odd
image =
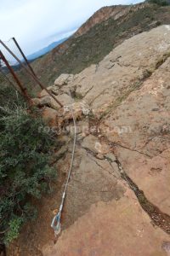
[[[2,44],[3,47],[8,50],[9,54],[12,55],[14,57],[14,59],[20,63],[21,67],[26,69],[26,72],[31,75],[31,77],[37,82],[37,84],[39,84],[39,86],[42,88],[42,90],[47,91],[48,95],[51,96],[54,99],[54,101],[57,102],[59,104],[59,106],[62,108],[63,104],[61,102],[59,102],[58,99],[56,99],[56,97],[54,97],[54,95],[37,79],[37,77],[35,75],[33,75],[31,73],[31,71],[19,60],[19,58],[17,58],[17,56],[14,55],[14,53],[10,49],[8,49],[8,46],[6,44],[4,44],[2,40],[0,40],[0,44]]]

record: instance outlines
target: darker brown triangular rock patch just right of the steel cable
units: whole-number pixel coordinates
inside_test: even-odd
[[[119,200],[126,191],[117,177],[116,169],[106,160],[77,146],[64,208],[64,228],[73,224],[90,206],[98,201]]]

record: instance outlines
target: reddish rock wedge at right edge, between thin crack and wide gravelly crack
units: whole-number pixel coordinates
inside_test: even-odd
[[[126,148],[117,148],[116,154],[147,199],[170,215],[170,148],[151,159]]]

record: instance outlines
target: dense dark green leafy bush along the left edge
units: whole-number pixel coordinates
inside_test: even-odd
[[[38,131],[42,119],[28,113],[20,96],[8,90],[12,92],[15,99],[5,104],[3,97],[0,106],[0,230],[5,244],[19,235],[26,220],[35,218],[32,197],[40,198],[55,176],[48,166],[52,136]]]

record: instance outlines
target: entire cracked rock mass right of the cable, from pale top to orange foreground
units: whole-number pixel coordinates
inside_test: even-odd
[[[94,115],[77,137],[65,231],[44,255],[169,255],[169,42],[170,26],[141,33],[60,87]]]

